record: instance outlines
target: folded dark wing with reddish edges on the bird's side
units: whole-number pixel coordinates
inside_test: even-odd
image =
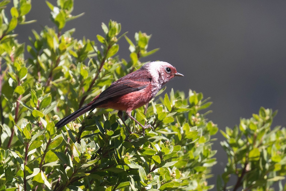
[[[132,73],[131,73],[132,74]],[[127,76],[124,76],[123,78],[120,78],[116,82],[113,82],[108,88],[106,88],[101,94],[98,96],[98,98],[88,105],[97,104],[103,100],[117,97],[121,95],[128,94],[130,92],[135,92],[138,90],[142,90],[146,88],[148,85],[150,85],[151,78],[148,78],[148,76],[137,76],[128,74]]]

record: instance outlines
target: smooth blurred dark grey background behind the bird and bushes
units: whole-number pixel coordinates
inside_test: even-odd
[[[285,126],[285,10],[286,1],[75,1],[73,15],[85,14],[63,31],[76,28],[75,38],[98,42],[96,35],[104,34],[101,23],[112,19],[131,40],[138,31],[152,34],[148,50],[160,50],[141,61],[169,62],[185,76],[169,82],[165,92],[192,89],[211,97],[213,113],[207,117],[222,130],[258,113],[261,106],[278,109],[273,125]],[[37,22],[17,26],[19,42],[29,44],[31,29],[53,27],[49,14],[45,1],[32,1],[26,21]],[[118,44],[120,58],[130,60],[126,40]],[[216,183],[227,163],[219,143],[224,138],[220,133],[216,137],[218,164],[209,184]]]

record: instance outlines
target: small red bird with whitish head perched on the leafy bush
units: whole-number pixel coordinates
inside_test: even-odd
[[[143,136],[145,129],[152,128],[149,125],[142,125],[131,115],[131,111],[149,103],[155,97],[164,84],[175,76],[184,76],[177,72],[176,68],[167,62],[149,62],[138,70],[113,82],[108,88],[97,95],[89,104],[78,109],[74,113],[59,120],[55,127],[57,129],[65,126],[84,113],[95,108],[111,108],[118,111],[118,116],[124,123],[128,132],[132,131],[123,120],[123,112],[142,127]]]

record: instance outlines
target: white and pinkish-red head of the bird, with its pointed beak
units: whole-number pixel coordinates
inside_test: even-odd
[[[177,72],[176,68],[168,62],[150,62],[143,66],[150,72],[153,79],[161,85],[166,84],[175,76],[184,76]]]

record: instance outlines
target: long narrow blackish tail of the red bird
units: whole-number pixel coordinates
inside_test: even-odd
[[[67,117],[64,117],[63,119],[59,120],[59,122],[57,122],[57,124],[55,124],[55,126],[57,127],[57,129],[59,129],[59,128],[65,126],[67,123],[75,120],[76,118],[80,117],[84,113],[86,113],[86,112],[88,112],[94,108],[95,108],[94,105],[86,105],[86,106],[78,109],[74,113],[69,114]]]

